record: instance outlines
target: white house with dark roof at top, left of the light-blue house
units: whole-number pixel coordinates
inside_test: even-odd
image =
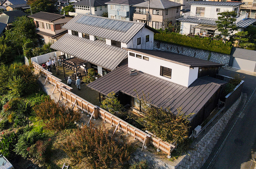
[[[92,15],[101,16],[103,12],[108,12],[108,6],[105,2],[109,0],[82,0],[80,2],[72,3],[75,6],[75,12],[77,14],[90,14],[90,10]]]

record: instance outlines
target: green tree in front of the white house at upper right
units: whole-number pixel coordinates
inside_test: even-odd
[[[225,39],[228,35],[232,34],[234,31],[238,30],[238,27],[236,26],[236,15],[237,13],[235,11],[224,11],[219,12],[218,20],[215,21],[217,23],[218,31],[220,31],[222,34],[224,34]]]

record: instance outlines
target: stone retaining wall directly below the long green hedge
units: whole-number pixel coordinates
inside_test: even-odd
[[[204,60],[208,60],[208,57],[210,55],[209,61],[225,64],[225,66],[223,67],[228,67],[229,59],[230,59],[230,55],[228,54],[211,52],[207,50],[195,49],[195,48],[185,47],[185,46],[179,46],[175,44],[159,42],[157,40],[154,40],[154,48],[158,48],[158,49],[162,49],[162,50],[170,51],[174,53],[179,53],[186,56],[192,56],[192,57],[196,57]]]

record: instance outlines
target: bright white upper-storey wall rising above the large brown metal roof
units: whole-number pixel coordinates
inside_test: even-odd
[[[139,70],[141,72],[148,73],[150,75],[162,78],[164,80],[167,80],[185,87],[188,87],[192,83],[192,81],[197,78],[198,72],[196,72],[196,68],[194,68],[194,70],[190,70],[190,67],[188,66],[183,66],[177,63],[173,63],[173,62],[165,61],[155,57],[144,55],[149,58],[149,61],[146,61],[136,57],[136,54],[139,54],[139,53],[136,53],[136,52],[131,52],[131,53],[135,53],[135,57],[130,56],[128,51],[128,67],[130,68],[135,68],[136,70]],[[142,58],[143,58],[143,55],[142,55]],[[172,78],[160,76],[160,66],[171,68]],[[189,76],[191,77],[189,78]]]

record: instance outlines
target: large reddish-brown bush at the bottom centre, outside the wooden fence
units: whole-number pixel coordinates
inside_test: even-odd
[[[96,127],[90,123],[67,137],[62,148],[73,162],[88,169],[120,169],[129,160],[134,146],[109,135],[104,125]]]

